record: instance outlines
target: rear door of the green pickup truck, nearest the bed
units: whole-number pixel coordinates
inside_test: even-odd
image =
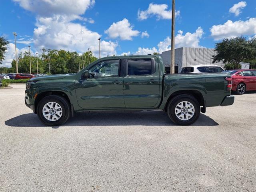
[[[129,60],[132,60],[131,66],[137,68],[129,68]],[[124,102],[127,108],[149,108],[154,107],[160,100],[160,77],[158,75],[158,67],[146,66],[151,64],[151,58],[145,59],[129,59],[126,63],[127,76],[124,77]],[[144,61],[141,61],[144,60]],[[141,62],[144,62],[143,64]],[[150,72],[147,72],[151,70]],[[153,73],[148,74],[146,73]],[[132,74],[129,76],[129,74]],[[140,75],[136,75],[140,74]],[[142,75],[141,75],[142,74]],[[145,75],[144,75],[145,74]]]

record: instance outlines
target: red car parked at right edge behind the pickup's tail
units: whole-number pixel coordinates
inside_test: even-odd
[[[246,91],[256,90],[256,70],[240,69],[224,71],[231,74],[232,91],[237,94],[244,94]]]

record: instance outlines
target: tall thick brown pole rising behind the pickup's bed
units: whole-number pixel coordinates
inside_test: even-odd
[[[170,63],[170,73],[175,73],[174,64],[175,64],[175,49],[174,49],[174,38],[175,38],[175,0],[172,0],[172,44],[171,44],[171,53],[172,59]]]

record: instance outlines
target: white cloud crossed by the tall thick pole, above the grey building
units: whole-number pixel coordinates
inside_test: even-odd
[[[179,30],[178,34],[175,36],[175,48],[179,47],[201,47],[199,45],[200,39],[204,31],[201,27],[198,27],[194,33],[187,32],[183,35],[183,31]],[[158,43],[158,51],[161,53],[171,49],[171,38],[166,37],[164,41]]]

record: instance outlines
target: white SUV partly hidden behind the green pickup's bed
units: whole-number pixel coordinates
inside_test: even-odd
[[[218,65],[190,65],[182,67],[180,73],[220,73],[224,69]]]

